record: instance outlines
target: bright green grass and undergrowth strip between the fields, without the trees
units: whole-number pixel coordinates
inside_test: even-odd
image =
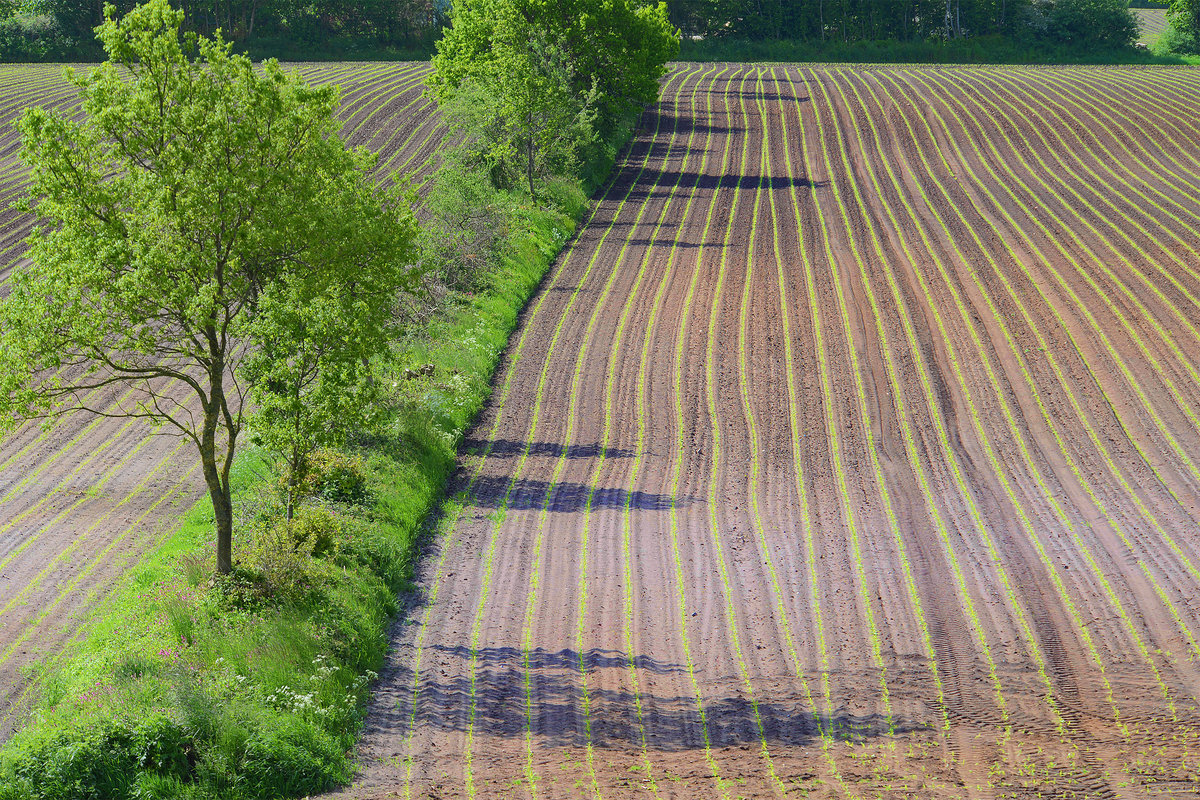
[[[397,345],[390,425],[323,456],[286,536],[270,462],[245,452],[240,567],[214,577],[202,501],[43,668],[29,723],[0,750],[0,800],[299,796],[353,776],[424,521],[521,308],[586,206],[582,186],[560,186],[551,209],[508,200],[509,234],[479,290],[451,295]]]

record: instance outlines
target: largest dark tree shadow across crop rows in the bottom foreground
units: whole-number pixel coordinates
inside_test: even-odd
[[[586,746],[587,734],[583,718],[582,675],[601,669],[625,672],[630,662],[640,672],[653,675],[686,674],[684,664],[665,663],[646,656],[632,660],[613,650],[588,650],[581,656],[575,650],[550,652],[530,651],[528,664],[517,648],[485,648],[475,658],[476,681],[472,692],[472,651],[466,646],[434,645],[437,655],[432,661],[446,663],[455,678],[433,675],[421,681],[415,716],[401,714],[395,720],[407,722],[415,718],[418,727],[466,730],[470,727],[470,709],[474,704],[476,734],[496,736],[523,736],[532,722],[534,734],[544,746]],[[529,680],[532,720],[527,714],[526,680]],[[398,675],[401,684],[412,680],[412,674]],[[643,679],[644,681],[644,679]],[[659,751],[686,751],[704,747],[700,706],[691,694],[660,696],[647,690],[635,697],[625,690],[599,687],[598,680],[588,680],[588,705],[590,708],[592,744],[596,747],[630,748],[642,746],[644,726],[646,746]],[[610,685],[614,681],[604,681]],[[624,681],[623,681],[624,682]],[[644,681],[643,686],[653,686]],[[868,738],[888,735],[888,722],[880,715],[864,717],[817,717],[804,710],[799,700],[776,703],[758,698],[757,709],[737,690],[731,694],[709,699],[703,704],[708,738],[713,747],[757,745],[766,739],[768,745],[788,747],[816,746],[821,729],[835,732],[836,738]],[[642,716],[638,720],[637,709]],[[410,711],[410,709],[408,709]],[[380,715],[382,717],[383,715]],[[756,716],[762,720],[760,733]],[[377,717],[378,718],[378,717]],[[368,720],[368,728],[376,720]],[[386,730],[379,718],[374,730],[366,730],[372,738],[378,734],[395,734]],[[919,724],[895,721],[896,733],[919,729]]]

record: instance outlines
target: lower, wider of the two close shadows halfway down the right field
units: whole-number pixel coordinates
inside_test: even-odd
[[[551,483],[527,479],[512,481],[506,475],[481,476],[476,480],[470,505],[482,509],[504,507],[510,511],[536,511],[545,506],[550,511],[576,513],[588,507],[589,494],[593,511],[626,506],[634,511],[670,511],[672,507],[672,498],[667,494],[592,487],[586,483]],[[673,505],[678,509],[686,507],[691,505],[691,498],[674,498]]]

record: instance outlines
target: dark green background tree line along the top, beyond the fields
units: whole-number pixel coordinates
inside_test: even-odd
[[[1129,47],[1129,5],[1166,0],[668,0],[668,18],[692,40],[961,42],[984,37],[1058,48]],[[185,0],[184,28],[256,55],[310,58],[433,52],[454,0]],[[458,4],[463,5],[463,4]],[[470,5],[470,4],[467,4]],[[572,4],[557,6],[566,18]],[[133,7],[118,4],[119,12]],[[1176,0],[1174,44],[1195,52],[1198,0]],[[103,0],[0,0],[0,59],[88,59]],[[799,58],[799,56],[798,56]]]

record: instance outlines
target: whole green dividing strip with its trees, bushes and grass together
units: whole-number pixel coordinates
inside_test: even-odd
[[[676,44],[662,7],[630,2],[629,8],[658,20],[662,37],[658,52],[672,53]],[[456,110],[469,96],[442,84],[443,104],[462,144],[445,154],[426,192],[425,222],[418,229],[409,196],[364,186],[370,160],[346,151],[332,136],[331,91],[310,90],[275,65],[256,72],[220,40],[180,37],[184,17],[163,0],[151,0],[122,20],[112,10],[108,13],[101,35],[107,37],[112,62],[77,80],[85,101],[88,92],[97,98],[86,107],[92,122],[77,125],[35,112],[26,122],[35,145],[26,152],[35,172],[42,163],[37,160],[44,158],[37,146],[52,148],[64,158],[96,154],[83,161],[94,172],[77,174],[92,175],[83,181],[91,192],[88,197],[108,200],[108,206],[100,201],[96,206],[110,207],[113,222],[98,230],[73,228],[66,219],[68,205],[59,198],[76,187],[50,181],[61,174],[52,167],[43,169],[42,182],[35,180],[43,196],[37,211],[50,215],[52,224],[38,234],[36,266],[5,303],[6,319],[17,323],[17,332],[6,332],[4,347],[22,359],[19,369],[6,373],[4,386],[13,398],[7,409],[56,413],[61,397],[46,392],[67,381],[46,383],[48,375],[59,374],[58,368],[72,359],[79,367],[98,367],[95,375],[107,375],[120,369],[118,355],[126,351],[137,354],[139,368],[160,368],[163,357],[168,365],[178,363],[178,374],[166,377],[194,389],[188,378],[204,374],[208,363],[198,357],[182,366],[191,351],[173,349],[170,342],[185,342],[181,348],[190,347],[191,338],[209,342],[214,319],[224,320],[222,314],[238,309],[247,317],[228,323],[233,344],[222,355],[226,368],[210,371],[204,384],[236,380],[236,390],[216,414],[217,427],[224,425],[228,432],[232,421],[235,428],[224,446],[215,449],[224,459],[217,464],[221,491],[210,492],[181,530],[132,571],[122,590],[97,612],[89,636],[37,678],[42,699],[31,724],[0,751],[0,800],[248,799],[320,792],[353,775],[350,753],[370,682],[383,663],[385,631],[398,610],[398,594],[408,587],[422,523],[454,469],[461,437],[487,398],[491,373],[517,314],[581,217],[586,193],[611,168],[632,113],[655,100],[664,64],[646,65],[637,78],[626,76],[628,83],[613,84],[624,86],[624,94],[608,96],[599,79],[586,77],[562,31],[527,29],[558,53],[552,92],[529,90],[546,78],[532,59],[516,62],[526,73],[491,85],[511,92],[500,103],[512,103],[526,114],[546,112],[536,104],[544,102],[586,109],[574,116],[571,136],[554,143],[552,157],[551,150],[541,150],[541,140],[530,145],[532,128],[502,124],[509,118],[497,113],[498,106],[482,106],[474,115]],[[473,76],[466,85],[485,84],[482,76],[497,68],[496,59],[508,58],[493,34],[485,34],[469,59],[455,61],[463,74]],[[620,38],[616,31],[606,35]],[[199,59],[185,55],[182,48],[188,46],[198,48]],[[590,40],[588,47],[600,47],[600,40]],[[487,67],[478,68],[470,59]],[[118,65],[131,72],[132,82],[113,83]],[[233,78],[226,83],[211,79],[227,74]],[[197,80],[203,91],[187,89],[184,78]],[[155,94],[156,88],[170,91]],[[192,100],[191,94],[198,97]],[[130,108],[154,112],[162,96],[172,97],[168,106],[193,124],[252,116],[222,116],[215,106],[203,106],[224,100],[228,104],[221,108],[236,109],[239,98],[248,96],[275,103],[270,108],[276,112],[283,109],[284,130],[307,126],[312,146],[328,148],[332,155],[325,154],[326,162],[299,158],[280,169],[308,190],[312,175],[293,172],[332,175],[334,186],[313,191],[311,201],[341,205],[320,210],[307,205],[307,198],[282,200],[284,207],[270,213],[244,215],[250,222],[241,239],[264,248],[280,246],[296,241],[288,235],[300,228],[319,230],[326,240],[322,248],[230,264],[230,270],[244,270],[236,282],[245,295],[215,302],[214,297],[223,297],[220,287],[206,289],[204,281],[198,289],[176,287],[170,294],[167,284],[181,283],[172,272],[174,261],[208,275],[197,266],[204,254],[188,249],[193,242],[173,237],[175,231],[188,230],[191,222],[192,229],[205,230],[204,215],[215,211],[199,207],[199,197],[187,205],[188,196],[174,184],[139,170],[145,162],[157,163],[145,155],[148,150],[166,152],[162,143],[193,126],[182,120],[174,128],[144,125],[143,144],[149,145],[143,150],[106,144],[115,134],[103,127],[108,119],[119,133],[120,125],[131,125]],[[120,98],[130,104],[112,102]],[[312,107],[287,102],[292,98],[307,98]],[[534,104],[518,106],[522,102]],[[37,136],[47,130],[54,136]],[[227,142],[251,152],[262,138],[270,138],[257,136],[262,130],[235,128],[235,133]],[[82,146],[72,146],[76,138]],[[36,144],[42,142],[49,144]],[[520,154],[506,156],[510,162],[490,155],[505,143],[526,155],[530,148],[536,151],[532,172]],[[134,155],[120,172],[104,172],[106,146]],[[218,150],[200,146],[197,157]],[[193,161],[182,151],[169,152],[160,161],[186,174]],[[518,163],[520,170],[505,173],[498,168],[502,163],[504,169]],[[242,180],[250,181],[245,174]],[[109,187],[114,181],[124,182]],[[221,186],[217,182],[211,191]],[[229,194],[260,196],[271,186],[244,182]],[[342,192],[356,194],[347,198]],[[148,198],[148,206],[130,201],[140,197]],[[176,205],[191,207],[191,216],[172,217]],[[154,224],[138,229],[137,219],[121,216],[128,207],[158,209],[149,216]],[[53,216],[55,211],[61,213]],[[364,217],[368,224],[360,237]],[[85,247],[88,241],[95,242],[95,252]],[[349,242],[353,248],[341,247],[350,247]],[[95,269],[83,270],[84,276],[128,284],[128,297],[101,293],[103,302],[92,300],[91,285],[72,288],[76,278],[65,267],[61,275],[53,272],[68,255],[89,254],[104,258]],[[144,275],[106,271],[122,259]],[[288,270],[284,265],[293,261],[300,266]],[[338,272],[338,281],[323,282],[328,272],[323,269],[334,269],[335,261],[359,277],[347,281],[350,276]],[[70,290],[48,291],[47,281]],[[180,302],[191,297],[192,305],[145,313],[139,303],[155,300],[156,293]],[[70,313],[37,311],[59,321],[18,319],[22,309],[54,299],[72,302]],[[86,323],[82,331],[70,327],[70,319],[62,321],[73,319],[76,309],[86,312],[79,315]],[[163,338],[149,320],[161,325],[194,320],[199,332],[181,327],[174,338]],[[61,362],[47,361],[46,345],[74,341],[61,325],[77,338],[86,333],[95,341],[65,350],[73,355]],[[114,337],[121,348],[108,347]],[[38,354],[41,360],[34,357]],[[179,387],[174,395],[157,385],[157,393],[149,384],[143,389],[150,399],[143,401],[140,413],[173,402],[173,408],[181,408],[182,401],[173,399],[181,397]],[[77,395],[67,392],[66,398]],[[204,408],[209,401],[202,393],[192,402]],[[163,422],[186,427],[182,419]],[[200,452],[205,458],[212,455],[203,446]],[[228,506],[222,509],[222,503]],[[222,529],[223,517],[228,540],[212,535]]]

